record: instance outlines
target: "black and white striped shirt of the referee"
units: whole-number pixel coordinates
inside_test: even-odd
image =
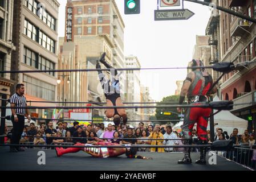
[[[10,98],[10,104],[15,104],[16,107],[26,107],[27,100],[25,96],[21,96],[18,93],[13,94]],[[17,108],[15,109],[16,114],[26,114],[26,109]]]

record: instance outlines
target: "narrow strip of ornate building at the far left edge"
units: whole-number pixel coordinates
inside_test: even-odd
[[[13,44],[13,9],[14,1],[0,1],[0,68],[10,71],[11,54],[15,50]],[[0,75],[0,98],[9,98],[10,88],[14,84],[10,73]]]

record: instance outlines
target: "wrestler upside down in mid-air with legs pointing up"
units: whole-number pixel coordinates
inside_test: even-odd
[[[117,71],[105,61],[105,52],[103,53],[103,55],[101,55],[99,61],[100,63],[104,64],[105,67],[111,69],[111,76],[109,79],[102,73],[101,70],[98,71],[100,83],[106,97],[107,106],[124,106],[120,97],[120,84]],[[96,69],[101,69],[100,63],[96,64]],[[125,109],[123,108],[106,109],[105,115],[108,118],[113,117],[113,122],[115,123],[115,125],[119,125],[121,119],[123,120],[124,125],[127,122],[127,114],[125,112]]]

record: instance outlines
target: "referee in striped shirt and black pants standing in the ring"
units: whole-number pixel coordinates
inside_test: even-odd
[[[16,93],[10,98],[11,107],[26,107],[27,100],[24,96],[25,87],[23,84],[16,85]],[[23,128],[25,125],[25,114],[27,114],[27,122],[30,122],[29,109],[16,108],[11,109],[11,122],[13,122],[13,132],[11,136],[11,144],[19,144]],[[10,147],[10,152],[25,151],[21,147]]]

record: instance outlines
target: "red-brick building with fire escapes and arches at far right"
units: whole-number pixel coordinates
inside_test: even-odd
[[[256,1],[220,1],[220,5],[231,8],[252,18],[256,17]],[[221,61],[234,64],[255,61],[256,26],[255,23],[227,13],[220,14]],[[232,113],[248,121],[252,131],[256,121],[256,63],[241,67],[237,72],[226,74],[221,84],[223,100],[233,100]]]

